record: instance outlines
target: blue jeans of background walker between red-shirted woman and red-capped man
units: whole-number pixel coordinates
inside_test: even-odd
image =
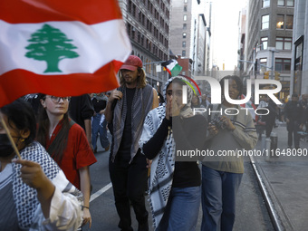
[[[107,148],[109,146],[109,140],[107,138],[107,121],[104,120],[102,123],[102,126],[100,125],[101,121],[101,114],[97,113],[95,116],[93,116],[92,120],[92,146],[93,149],[97,149],[96,142],[97,142],[97,135],[100,133],[100,141],[101,141],[101,147]]]

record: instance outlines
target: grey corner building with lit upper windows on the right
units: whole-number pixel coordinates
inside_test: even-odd
[[[255,78],[279,80],[280,98],[290,93],[294,0],[250,0],[245,60]]]

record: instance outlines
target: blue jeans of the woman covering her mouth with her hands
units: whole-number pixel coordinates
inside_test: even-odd
[[[191,231],[196,229],[201,187],[171,188],[167,207],[157,231]]]

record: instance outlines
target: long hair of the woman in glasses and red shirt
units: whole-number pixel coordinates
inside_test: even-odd
[[[39,99],[42,99],[45,101],[46,95],[45,94],[39,94]],[[54,143],[54,151],[53,153],[49,153],[49,155],[58,163],[60,166],[63,159],[64,150],[67,147],[67,140],[69,137],[69,131],[70,131],[70,119],[69,119],[69,112],[67,111],[63,115],[63,127],[57,134],[57,137],[60,136],[56,143]],[[40,106],[39,109],[39,116],[38,116],[38,130],[36,133],[36,140],[40,142],[43,147],[46,149],[46,140],[49,139],[49,126],[50,121],[47,115],[46,110],[43,108],[43,106]],[[53,140],[53,142],[56,140]],[[48,151],[48,149],[47,149]]]

